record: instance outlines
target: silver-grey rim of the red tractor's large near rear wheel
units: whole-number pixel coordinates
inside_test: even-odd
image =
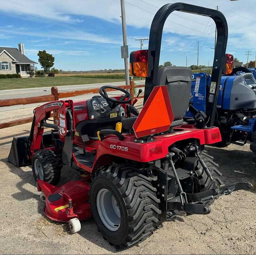
[[[104,226],[110,231],[120,227],[120,209],[115,197],[108,189],[100,189],[96,198],[98,214]]]

